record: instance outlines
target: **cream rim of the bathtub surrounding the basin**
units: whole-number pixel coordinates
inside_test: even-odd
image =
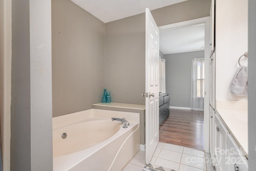
[[[98,114],[98,112],[103,112],[104,114],[102,113]],[[71,115],[76,115],[78,117],[75,117],[76,119],[72,118],[71,120],[69,120]],[[98,118],[98,120],[102,120],[102,119],[108,120],[108,119],[111,119],[111,117],[122,118],[123,116],[125,116],[125,118],[130,122],[130,126],[128,128],[122,128],[122,124],[120,123],[121,131],[119,130],[116,134],[114,134],[114,136],[108,138],[107,140],[104,140],[101,143],[98,143],[87,149],[77,151],[75,153],[54,157],[53,168],[55,170],[57,169],[57,170],[65,170],[65,171],[72,169],[72,167],[78,165],[84,159],[86,159],[87,157],[90,157],[96,151],[108,145],[108,143],[111,143],[112,141],[116,140],[118,137],[120,137],[122,134],[124,134],[128,130],[132,130],[131,134],[137,131],[140,128],[140,114],[134,113],[134,112],[120,112],[120,111],[112,111],[112,110],[90,109],[90,110],[84,110],[84,111],[75,112],[72,114],[53,118],[53,130],[56,130],[64,126],[68,126],[70,124],[77,124],[80,122],[84,122],[85,120],[88,120],[88,119],[95,120],[95,118]],[[57,125],[55,125],[54,120],[56,121],[58,119],[60,119],[60,121],[57,122]],[[63,120],[68,120],[68,123],[62,123]],[[63,166],[63,167],[59,167],[59,166]]]

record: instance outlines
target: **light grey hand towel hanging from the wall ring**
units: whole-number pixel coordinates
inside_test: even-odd
[[[230,92],[236,96],[248,96],[248,67],[238,68],[231,81]]]

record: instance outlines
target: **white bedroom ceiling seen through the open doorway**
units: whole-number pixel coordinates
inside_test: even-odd
[[[204,24],[160,32],[160,51],[164,54],[204,50]]]

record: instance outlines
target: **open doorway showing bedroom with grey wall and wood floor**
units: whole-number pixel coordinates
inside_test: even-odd
[[[170,115],[160,123],[159,142],[208,152],[208,18],[159,29],[160,61],[166,71],[161,73],[160,65],[160,85],[166,84],[160,92],[170,95]]]

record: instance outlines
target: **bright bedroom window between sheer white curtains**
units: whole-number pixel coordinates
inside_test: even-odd
[[[204,61],[197,62],[196,97],[204,97]]]

